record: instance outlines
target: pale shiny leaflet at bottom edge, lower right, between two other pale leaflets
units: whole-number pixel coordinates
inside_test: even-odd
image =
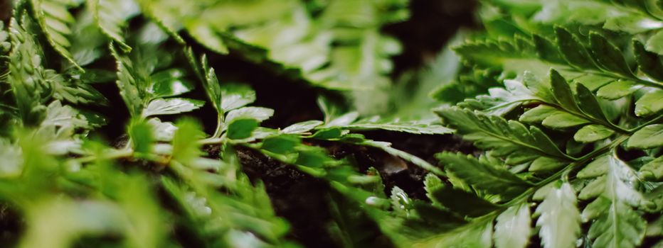
[[[536,226],[545,248],[576,247],[580,234],[580,212],[576,208],[576,193],[568,183],[548,191],[536,208]]]

